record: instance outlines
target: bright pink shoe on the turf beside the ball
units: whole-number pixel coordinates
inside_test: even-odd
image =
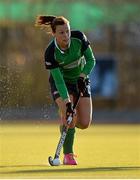
[[[74,159],[76,157],[74,154],[69,153],[64,155],[63,164],[64,165],[77,165],[76,160]]]

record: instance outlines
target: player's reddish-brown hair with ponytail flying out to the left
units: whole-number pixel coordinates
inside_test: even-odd
[[[63,16],[43,16],[39,15],[36,18],[35,26],[41,28],[51,28],[52,32],[55,33],[56,26],[68,24],[69,21]]]

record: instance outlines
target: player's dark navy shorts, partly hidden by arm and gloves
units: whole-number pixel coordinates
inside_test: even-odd
[[[50,87],[51,87],[51,94],[52,94],[52,97],[54,99],[54,101],[60,97],[60,94],[55,86],[55,82],[53,80],[53,77],[50,75],[50,78],[49,78],[49,83],[50,83]],[[70,84],[70,83],[66,83],[66,87],[67,87],[67,90],[68,90],[68,93],[70,95],[73,95],[73,96],[77,96],[78,95],[78,87],[77,87],[77,84]],[[85,90],[85,93],[83,94],[82,97],[90,97],[91,96],[91,89],[90,89],[90,80],[89,78],[86,79],[86,90]]]

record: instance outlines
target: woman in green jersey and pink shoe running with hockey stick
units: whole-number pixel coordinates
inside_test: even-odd
[[[36,26],[51,28],[53,36],[45,51],[45,66],[50,71],[51,93],[60,111],[61,131],[81,92],[63,145],[63,164],[77,165],[73,151],[75,127],[86,129],[92,120],[88,75],[95,66],[95,58],[86,36],[80,31],[71,31],[69,21],[63,16],[38,16]]]

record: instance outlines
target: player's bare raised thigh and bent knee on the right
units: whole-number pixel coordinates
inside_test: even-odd
[[[91,97],[81,97],[77,106],[77,123],[81,128],[87,128],[92,120]]]

